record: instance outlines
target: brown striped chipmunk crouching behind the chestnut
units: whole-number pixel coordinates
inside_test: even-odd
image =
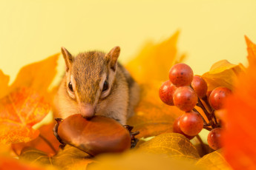
[[[140,100],[140,87],[117,61],[119,53],[114,47],[107,54],[90,51],[73,57],[62,47],[66,72],[54,100],[54,117],[103,115],[125,124]]]

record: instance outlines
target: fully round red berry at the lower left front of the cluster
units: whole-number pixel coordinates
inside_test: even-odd
[[[186,112],[180,118],[180,129],[189,136],[195,136],[203,129],[203,118],[196,112]]]

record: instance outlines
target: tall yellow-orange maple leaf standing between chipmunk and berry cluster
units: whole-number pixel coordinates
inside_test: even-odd
[[[175,118],[183,113],[177,107],[160,101],[158,94],[162,82],[168,79],[172,64],[184,58],[184,55],[177,56],[178,35],[179,32],[174,33],[160,44],[148,44],[137,58],[126,65],[142,89],[136,114],[128,120],[134,131],[140,131],[139,138],[172,132]]]

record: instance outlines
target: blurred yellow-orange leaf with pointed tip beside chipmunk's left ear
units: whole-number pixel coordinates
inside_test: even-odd
[[[49,95],[48,87],[56,75],[58,58],[59,53],[52,55],[43,61],[22,67],[15,81],[10,86],[8,86],[9,76],[4,75],[0,70],[0,98],[3,98],[17,88],[28,87],[40,92],[40,94],[44,95],[49,101],[52,100],[53,96]]]

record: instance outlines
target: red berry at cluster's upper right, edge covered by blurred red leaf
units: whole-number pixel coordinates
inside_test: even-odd
[[[232,91],[225,86],[219,86],[212,90],[209,98],[209,103],[211,104],[211,107],[215,110],[222,109],[223,101],[230,94],[232,94]]]

